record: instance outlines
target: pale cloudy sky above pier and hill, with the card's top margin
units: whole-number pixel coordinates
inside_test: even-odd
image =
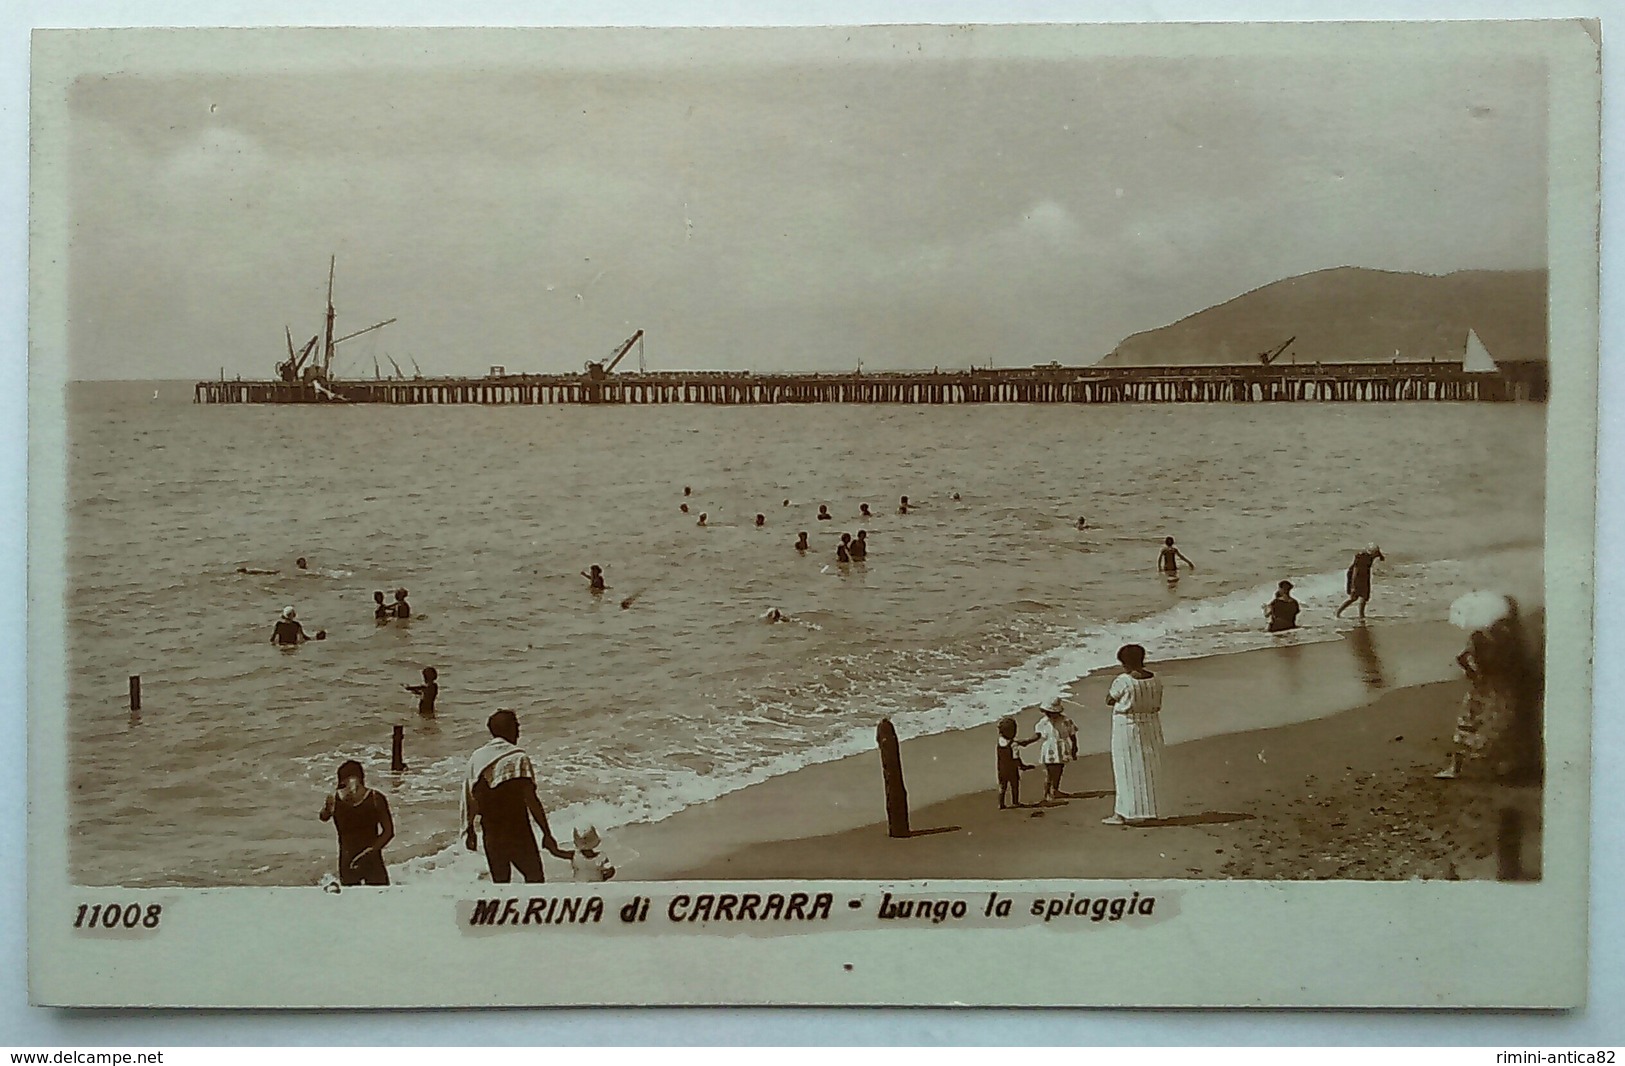
[[[330,255],[340,333],[398,318],[340,346],[367,377],[578,370],[637,328],[650,369],[1092,362],[1311,270],[1545,265],[1531,60],[809,34],[86,63],[70,374],[270,377]]]

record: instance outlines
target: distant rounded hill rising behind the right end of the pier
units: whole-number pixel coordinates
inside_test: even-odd
[[[1469,328],[1495,359],[1545,359],[1545,284],[1544,270],[1318,270],[1136,333],[1100,364],[1256,364],[1294,335],[1282,362],[1459,361]]]

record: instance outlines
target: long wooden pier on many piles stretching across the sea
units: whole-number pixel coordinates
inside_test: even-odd
[[[852,374],[666,370],[198,382],[195,403],[1268,403],[1545,401],[1544,361],[1027,367]]]

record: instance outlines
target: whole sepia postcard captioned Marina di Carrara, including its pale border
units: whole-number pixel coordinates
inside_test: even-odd
[[[36,1003],[1584,1001],[1596,23],[32,52]]]

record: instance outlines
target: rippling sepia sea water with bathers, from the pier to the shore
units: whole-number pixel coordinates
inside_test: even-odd
[[[1367,541],[1378,624],[1540,570],[1532,405],[195,406],[132,382],[76,384],[68,413],[86,884],[314,884],[351,757],[390,798],[396,879],[465,876],[442,858],[502,707],[567,840],[868,749],[882,715],[905,738],[988,722],[1124,640],[1264,647],[1280,578],[1334,635]],[[837,566],[860,528],[868,561]],[[1198,567],[1175,587],[1164,536]],[[418,614],[377,626],[396,587]],[[271,645],[283,606],[328,639]],[[424,666],[432,718],[401,687]]]

